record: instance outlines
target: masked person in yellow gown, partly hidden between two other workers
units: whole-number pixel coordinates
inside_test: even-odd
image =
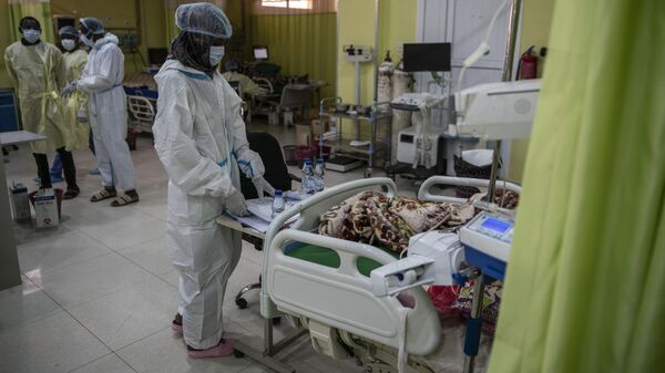
[[[81,48],[79,41],[79,31],[72,25],[65,25],[58,30],[60,35],[60,44],[64,50],[64,66],[66,69],[65,80],[72,82],[81,76],[83,68],[88,62],[88,52]],[[69,144],[65,144],[65,149],[72,151],[89,145],[88,125],[88,95],[84,93],[75,94],[63,102],[64,120],[68,121],[68,129],[71,135],[68,136]],[[53,166],[51,166],[51,183],[59,183],[62,178],[62,162],[60,156],[55,154]]]

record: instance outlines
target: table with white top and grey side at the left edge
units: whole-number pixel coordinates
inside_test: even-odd
[[[0,133],[0,145],[19,145],[47,139],[45,136],[28,131]],[[17,253],[17,240],[10,213],[7,177],[4,175],[4,156],[0,153],[0,290],[21,284],[21,270]]]

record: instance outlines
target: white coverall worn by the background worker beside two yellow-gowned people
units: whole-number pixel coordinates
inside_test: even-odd
[[[136,185],[125,142],[127,108],[123,76],[124,54],[117,48],[117,38],[106,34],[90,51],[78,87],[89,94],[88,115],[102,184],[131,190]]]

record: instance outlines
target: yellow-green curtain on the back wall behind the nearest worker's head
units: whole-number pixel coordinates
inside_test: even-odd
[[[255,14],[249,29],[250,43],[268,45],[269,61],[282,65],[282,75],[309,74],[329,84],[321,96],[335,94],[337,13]]]

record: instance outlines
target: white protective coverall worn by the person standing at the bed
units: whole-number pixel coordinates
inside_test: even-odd
[[[155,79],[153,134],[170,179],[166,250],[180,271],[184,339],[209,349],[222,339],[226,282],[241,258],[241,234],[215,218],[241,188],[238,166],[252,178],[264,165],[247,145],[241,99],[219,73],[168,60]]]

